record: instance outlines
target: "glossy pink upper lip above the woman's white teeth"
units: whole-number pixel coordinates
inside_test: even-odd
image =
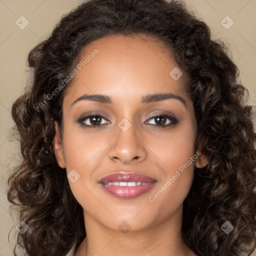
[[[108,182],[154,182],[154,178],[137,173],[137,172],[114,172],[109,175],[104,176],[99,180],[99,183],[108,183]]]

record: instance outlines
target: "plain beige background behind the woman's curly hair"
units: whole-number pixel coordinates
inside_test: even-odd
[[[7,135],[13,122],[10,108],[22,93],[28,78],[26,57],[29,50],[49,35],[63,13],[79,0],[0,0],[0,255],[11,255],[17,221],[11,217],[6,200],[6,179],[9,169],[18,161],[16,141]],[[224,40],[230,56],[240,70],[240,82],[249,90],[248,103],[256,105],[255,59],[256,0],[185,0],[189,8],[210,26],[212,37]],[[24,16],[29,24],[20,29],[15,21]],[[224,28],[220,21],[229,16],[234,24]],[[227,21],[227,25],[230,21]],[[231,55],[232,54],[232,55]],[[8,232],[10,243],[8,242]],[[21,254],[20,254],[21,255]],[[255,254],[256,255],[256,251]]]

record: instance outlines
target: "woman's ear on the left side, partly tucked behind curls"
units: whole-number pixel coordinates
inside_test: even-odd
[[[60,131],[59,125],[56,121],[54,121],[54,126],[55,126],[55,136],[52,141],[54,154],[55,154],[55,157],[56,157],[59,167],[65,168],[61,131]]]

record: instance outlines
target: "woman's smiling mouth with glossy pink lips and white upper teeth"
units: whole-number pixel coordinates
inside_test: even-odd
[[[149,191],[156,180],[135,172],[117,172],[103,177],[100,187],[108,194],[122,199],[131,199]]]

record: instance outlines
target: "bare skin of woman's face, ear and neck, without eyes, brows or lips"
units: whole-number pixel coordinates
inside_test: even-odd
[[[79,255],[195,255],[180,234],[182,202],[193,178],[197,158],[157,198],[148,197],[159,190],[182,164],[195,154],[196,122],[193,104],[186,93],[188,77],[174,80],[169,72],[177,65],[161,42],[146,35],[111,35],[93,41],[81,54],[84,59],[94,49],[99,52],[75,75],[63,99],[62,129],[55,123],[53,141],[58,164],[67,174],[75,169],[80,177],[69,185],[84,212],[86,238]],[[171,92],[185,100],[165,99],[141,103],[141,97]],[[83,94],[104,94],[112,104],[79,100]],[[100,127],[84,127],[78,119],[96,112]],[[157,113],[171,114],[178,120],[170,127],[156,126]],[[127,131],[118,123],[126,118]],[[85,120],[83,121],[85,123]],[[168,124],[166,119],[164,124]],[[89,118],[86,124],[90,124]],[[164,125],[163,124],[163,125]],[[157,180],[148,192],[119,199],[106,193],[100,178],[120,170],[138,172]],[[63,169],[63,171],[65,171]],[[126,221],[130,230],[118,226]],[[96,254],[97,253],[97,254]]]

